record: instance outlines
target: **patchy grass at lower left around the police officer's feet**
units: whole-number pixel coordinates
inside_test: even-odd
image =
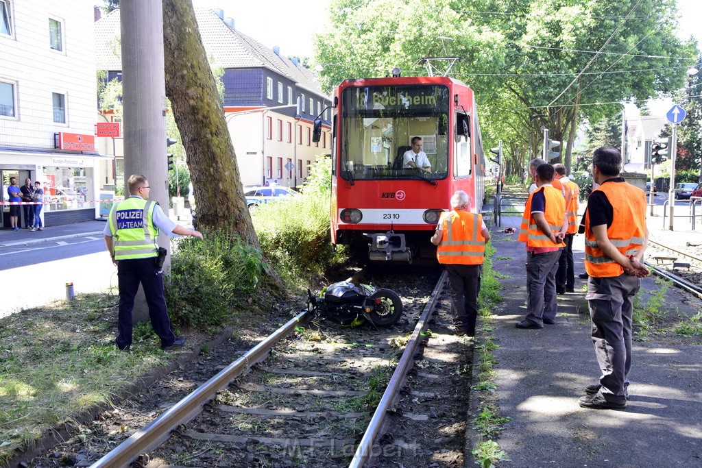
[[[109,403],[139,375],[166,364],[149,324],[135,329],[134,342],[154,346],[125,353],[112,343],[117,314],[107,311],[115,302],[112,295],[78,295],[0,321],[0,463],[69,415]]]

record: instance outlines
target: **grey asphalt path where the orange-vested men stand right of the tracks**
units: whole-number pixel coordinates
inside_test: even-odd
[[[499,466],[701,466],[702,349],[686,344],[699,340],[634,342],[627,409],[580,408],[583,389],[600,376],[590,340],[586,280],[577,276],[583,272],[583,236],[574,241],[576,293],[558,296],[556,324],[521,330],[515,323],[526,313],[524,243],[516,233],[498,232],[505,227],[518,232],[519,221],[503,218],[500,228],[493,227],[494,245],[505,259],[495,259],[494,268],[509,276],[500,280],[504,300],[494,311],[498,413],[511,418],[496,439],[510,458]],[[654,279],[644,279],[642,290],[655,289]],[[697,312],[675,288],[668,290],[664,307]]]

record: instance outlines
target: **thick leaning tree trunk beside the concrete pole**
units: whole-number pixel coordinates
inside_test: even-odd
[[[204,229],[258,237],[246,208],[236,154],[190,0],[164,0],[166,95],[171,100]]]

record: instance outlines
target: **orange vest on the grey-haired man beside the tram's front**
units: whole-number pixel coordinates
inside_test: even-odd
[[[482,265],[485,238],[482,215],[465,210],[452,210],[441,215],[442,241],[437,247],[437,260],[443,264]]]

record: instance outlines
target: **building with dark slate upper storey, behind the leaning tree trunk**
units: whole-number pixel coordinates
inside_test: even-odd
[[[324,112],[330,98],[300,60],[286,58],[279,47],[267,48],[243,34],[222,10],[196,8],[195,15],[208,57],[224,69],[223,107],[242,184],[277,180],[285,187],[300,185],[317,156],[331,153],[331,110]],[[108,80],[121,79],[121,58],[114,47],[118,43],[119,10],[115,10],[95,22],[98,69],[107,72]],[[314,143],[312,126],[319,114],[324,119],[322,140]],[[119,161],[121,145],[113,144],[107,139],[101,143]]]

